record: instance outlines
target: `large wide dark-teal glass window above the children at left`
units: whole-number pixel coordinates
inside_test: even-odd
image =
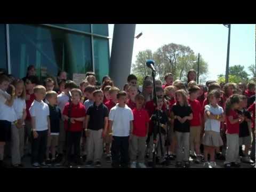
[[[66,70],[73,73],[92,70],[90,37],[65,30],[39,25],[10,25],[10,54],[12,74],[26,76],[29,65],[34,65],[37,75],[57,76]]]

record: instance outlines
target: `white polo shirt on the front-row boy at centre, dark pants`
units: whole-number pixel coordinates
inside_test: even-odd
[[[133,121],[132,110],[125,107],[118,107],[118,103],[109,112],[109,120],[113,121],[113,136],[127,137],[130,135],[130,121]]]

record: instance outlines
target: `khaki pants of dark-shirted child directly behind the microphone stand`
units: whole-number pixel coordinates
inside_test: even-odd
[[[153,141],[153,134],[150,136],[150,140],[149,140],[149,158],[148,161],[152,162],[153,161],[153,151],[154,151],[154,141]],[[165,154],[165,135],[161,133],[161,139],[162,139],[162,148],[163,148],[163,154]],[[157,133],[157,137],[156,137],[156,145],[157,145],[157,157],[161,157],[159,162],[163,162],[164,161],[164,155],[162,156],[161,154],[161,145],[160,145],[160,140],[159,140],[159,134]]]

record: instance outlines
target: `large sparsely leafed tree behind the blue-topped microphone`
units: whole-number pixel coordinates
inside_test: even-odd
[[[159,47],[154,53],[151,50],[140,51],[137,55],[136,62],[132,65],[132,71],[136,75],[145,77],[151,75],[151,70],[147,68],[145,62],[147,59],[154,59],[156,62],[155,68],[157,78],[164,82],[164,75],[172,73],[174,79],[187,79],[187,73],[190,69],[197,70],[197,57],[194,51],[189,46],[179,44],[166,44]],[[208,65],[201,57],[199,74],[201,81],[207,76]]]

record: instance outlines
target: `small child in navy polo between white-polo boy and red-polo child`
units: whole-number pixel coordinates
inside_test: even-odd
[[[50,124],[51,124],[51,134],[48,135],[47,140],[47,150],[46,150],[46,164],[55,163],[55,153],[56,146],[58,146],[59,133],[60,133],[60,120],[61,120],[61,111],[57,106],[57,93],[55,91],[46,92],[46,99],[49,102],[49,111],[50,111]],[[49,158],[49,152],[51,150],[52,159]]]

